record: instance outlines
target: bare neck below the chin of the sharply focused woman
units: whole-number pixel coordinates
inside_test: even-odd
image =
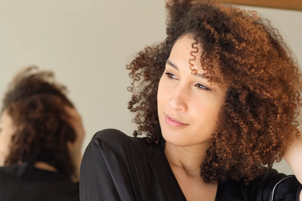
[[[182,168],[190,176],[200,177],[200,165],[207,158],[209,143],[194,146],[175,146],[165,142],[165,155],[171,166]]]

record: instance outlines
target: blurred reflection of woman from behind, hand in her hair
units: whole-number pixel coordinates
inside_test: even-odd
[[[79,200],[82,121],[51,71],[29,67],[5,93],[0,200]]]

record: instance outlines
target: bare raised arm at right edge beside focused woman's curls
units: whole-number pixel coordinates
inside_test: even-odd
[[[293,170],[297,180],[302,184],[302,130],[298,129],[300,137],[296,137],[293,133],[293,143],[288,146],[284,159]],[[300,200],[302,201],[302,191],[300,192]]]

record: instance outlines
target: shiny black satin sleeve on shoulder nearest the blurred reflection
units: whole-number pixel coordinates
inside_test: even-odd
[[[116,152],[102,140],[104,135],[108,130],[96,133],[83,155],[80,200],[134,201],[129,175]]]

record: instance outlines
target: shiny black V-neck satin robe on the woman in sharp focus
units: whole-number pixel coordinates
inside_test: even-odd
[[[80,170],[81,201],[186,201],[163,150],[164,142],[105,129],[94,135]],[[295,201],[301,184],[271,169],[246,186],[228,180],[215,201]]]

